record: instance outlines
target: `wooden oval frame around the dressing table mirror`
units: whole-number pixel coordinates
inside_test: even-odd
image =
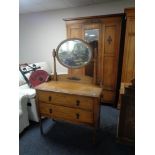
[[[68,65],[65,65],[64,63],[62,63],[62,61],[59,59],[58,51],[59,51],[61,45],[64,44],[65,42],[67,42],[67,41],[74,41],[74,40],[78,40],[78,41],[82,42],[83,44],[85,44],[85,45],[88,47],[88,50],[89,50],[89,52],[90,52],[90,57],[89,57],[87,63],[85,63],[84,65],[81,65],[81,66],[68,66]],[[82,67],[86,66],[86,65],[89,64],[89,62],[91,61],[92,55],[93,55],[93,53],[92,53],[92,47],[91,47],[86,41],[84,41],[84,40],[82,40],[82,39],[79,39],[79,38],[65,39],[65,40],[63,40],[63,41],[57,46],[57,48],[56,48],[56,57],[57,57],[58,62],[59,62],[61,65],[65,66],[65,67],[67,67],[67,68],[69,68],[69,69],[78,69],[78,68],[82,68]]]

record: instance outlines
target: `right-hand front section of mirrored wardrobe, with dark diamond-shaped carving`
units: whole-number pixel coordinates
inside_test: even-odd
[[[101,79],[103,101],[108,103],[115,102],[117,91],[121,18],[116,19],[104,21],[102,25]]]

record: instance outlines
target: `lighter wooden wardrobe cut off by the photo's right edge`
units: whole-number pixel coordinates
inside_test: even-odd
[[[123,53],[122,75],[118,107],[121,107],[121,94],[135,79],[135,9],[125,9],[126,30]]]

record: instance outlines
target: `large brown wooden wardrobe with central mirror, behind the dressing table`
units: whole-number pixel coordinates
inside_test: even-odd
[[[93,47],[96,57],[96,83],[103,88],[101,102],[116,104],[119,91],[119,59],[124,14],[65,18],[67,38],[80,38]],[[92,75],[93,63],[80,69],[69,69],[71,76]],[[92,71],[92,72],[91,72]]]

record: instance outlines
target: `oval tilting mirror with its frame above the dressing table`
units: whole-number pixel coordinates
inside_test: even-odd
[[[66,39],[58,45],[56,57],[67,68],[80,68],[90,62],[92,49],[81,39]]]

